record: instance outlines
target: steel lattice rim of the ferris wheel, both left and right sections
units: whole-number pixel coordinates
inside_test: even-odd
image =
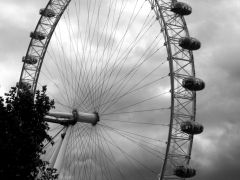
[[[51,9],[56,16],[49,18],[41,16],[34,32],[43,33],[46,38],[37,40],[32,38],[26,57],[36,57],[37,64],[24,63],[19,84],[30,86],[35,92],[41,66],[48,44],[62,14],[71,0],[50,0],[45,9]],[[183,16],[171,11],[175,0],[148,0],[155,11],[165,38],[165,46],[169,61],[169,76],[171,83],[171,115],[169,135],[165,153],[165,160],[160,180],[182,179],[174,175],[174,168],[179,165],[188,165],[191,158],[193,135],[183,133],[180,124],[185,121],[195,121],[196,93],[182,87],[182,80],[186,77],[195,77],[194,58],[192,51],[179,47],[179,39],[189,37],[186,22]]]

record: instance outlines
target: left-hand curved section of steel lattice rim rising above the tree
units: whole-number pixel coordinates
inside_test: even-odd
[[[71,0],[51,0],[48,2],[46,8],[53,10],[56,15],[52,18],[48,18],[45,16],[41,16],[38,24],[34,30],[34,32],[41,32],[46,35],[44,40],[36,40],[34,38],[31,39],[30,44],[28,46],[28,50],[26,56],[33,56],[37,58],[37,64],[28,64],[24,63],[21,76],[20,76],[20,84],[26,83],[31,85],[31,90],[35,92],[38,82],[38,77],[41,71],[42,63],[44,56],[46,54],[48,44],[51,40],[51,37],[54,33],[54,30],[61,19],[65,9]]]

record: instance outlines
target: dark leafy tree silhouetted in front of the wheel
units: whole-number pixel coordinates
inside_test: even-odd
[[[42,87],[34,98],[28,88],[12,87],[5,99],[0,97],[0,179],[57,178],[56,170],[40,158],[43,141],[51,140],[44,116],[54,108],[46,90]]]

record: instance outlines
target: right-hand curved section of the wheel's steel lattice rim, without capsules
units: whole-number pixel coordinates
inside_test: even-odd
[[[182,16],[170,11],[171,2],[154,1],[157,16],[164,28],[166,48],[171,79],[171,117],[166,156],[160,179],[181,179],[174,177],[174,167],[189,164],[193,144],[193,136],[182,133],[180,124],[184,121],[195,121],[196,93],[182,87],[182,79],[195,77],[194,58],[189,50],[179,47],[179,39],[189,37],[186,22]]]

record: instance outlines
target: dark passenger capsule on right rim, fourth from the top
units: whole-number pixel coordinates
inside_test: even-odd
[[[191,135],[200,134],[203,132],[203,125],[194,121],[182,122],[180,127],[182,132],[191,134]]]

